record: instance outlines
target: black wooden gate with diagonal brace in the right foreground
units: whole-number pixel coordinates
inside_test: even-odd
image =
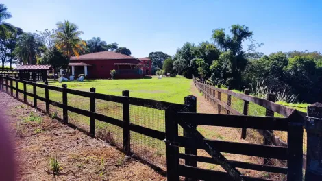
[[[267,180],[243,176],[236,168],[280,173],[287,175],[287,180],[302,180],[303,122],[297,110],[289,117],[280,118],[182,113],[169,107],[165,116],[168,180],[179,180],[180,176],[186,180]],[[178,136],[178,125],[184,129],[184,136]],[[197,125],[286,131],[288,146],[210,140],[197,131]],[[179,147],[184,147],[185,152],[179,153]],[[205,150],[210,157],[197,156],[197,149]],[[287,167],[227,160],[221,152],[286,160]],[[180,159],[185,161],[185,165]],[[220,165],[226,172],[201,169],[197,167],[197,162]]]

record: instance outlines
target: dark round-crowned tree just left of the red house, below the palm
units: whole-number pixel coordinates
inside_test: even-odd
[[[67,68],[69,64],[69,59],[64,56],[64,54],[58,51],[57,48],[53,47],[52,49],[47,50],[42,56],[40,64],[50,64],[53,67],[53,75],[55,71],[59,68]],[[55,79],[55,76],[54,76]]]

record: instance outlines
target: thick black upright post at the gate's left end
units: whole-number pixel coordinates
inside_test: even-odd
[[[179,147],[171,145],[178,135],[175,112],[171,106],[165,111],[166,124],[166,178],[168,181],[179,181]]]

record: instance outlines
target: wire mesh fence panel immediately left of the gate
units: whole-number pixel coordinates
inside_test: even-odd
[[[165,111],[143,106],[129,106],[130,123],[165,132]],[[132,152],[143,160],[164,168],[166,149],[163,141],[131,132]]]

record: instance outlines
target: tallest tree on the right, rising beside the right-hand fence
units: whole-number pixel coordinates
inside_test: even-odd
[[[214,29],[212,32],[212,40],[225,54],[219,57],[219,61],[212,63],[213,80],[221,80],[225,84],[230,84],[235,88],[241,86],[241,74],[243,73],[247,59],[244,53],[247,51],[255,51],[256,48],[262,46],[262,43],[254,43],[252,38],[253,32],[249,31],[245,25],[232,25],[230,27],[231,35],[225,34],[225,29]],[[249,40],[251,44],[244,51],[242,43]],[[219,67],[224,69],[218,69]]]

